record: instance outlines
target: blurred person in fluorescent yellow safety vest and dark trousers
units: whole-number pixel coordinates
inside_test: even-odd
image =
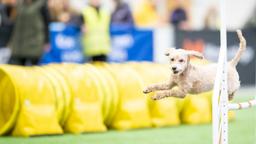
[[[99,0],[90,0],[82,11],[84,54],[92,61],[106,61],[110,51],[110,12],[100,6]]]

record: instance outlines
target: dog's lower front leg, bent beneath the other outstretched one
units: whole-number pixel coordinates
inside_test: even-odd
[[[176,97],[176,98],[185,98],[187,96],[187,92],[185,90],[165,90],[162,92],[156,92],[156,94],[151,98],[152,100],[159,100],[165,97]]]

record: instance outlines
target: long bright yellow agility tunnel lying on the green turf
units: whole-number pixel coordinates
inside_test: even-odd
[[[151,100],[155,92],[143,93],[146,85],[169,76],[167,64],[154,62],[0,65],[0,135],[210,123],[212,92],[158,101]]]

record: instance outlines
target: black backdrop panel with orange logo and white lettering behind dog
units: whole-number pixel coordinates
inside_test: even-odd
[[[242,30],[246,40],[246,50],[239,60],[236,69],[242,84],[255,84],[256,66],[256,32]],[[220,31],[183,31],[175,32],[176,48],[203,52],[206,60],[218,62],[220,51]],[[227,59],[232,60],[239,48],[239,38],[236,32],[227,32]]]

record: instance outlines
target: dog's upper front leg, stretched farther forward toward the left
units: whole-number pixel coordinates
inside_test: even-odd
[[[151,84],[151,85],[147,86],[143,92],[149,93],[149,92],[155,92],[155,91],[160,91],[160,90],[169,90],[169,89],[172,89],[173,86],[174,86],[174,84],[171,84],[169,82]]]

